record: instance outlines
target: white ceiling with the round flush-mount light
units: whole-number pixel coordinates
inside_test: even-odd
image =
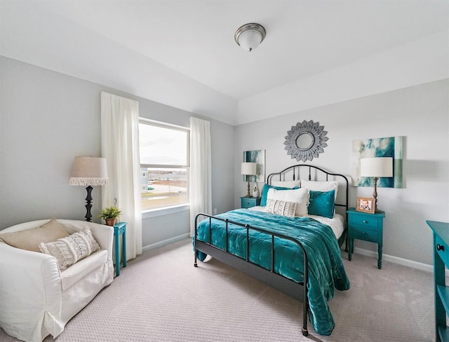
[[[363,69],[358,63],[373,62],[373,56],[382,60],[382,54],[398,48],[413,55],[413,44],[422,50],[417,42],[436,46],[443,41],[435,51],[447,57],[449,46],[447,0],[0,4],[1,55],[232,124],[302,109],[300,103],[281,104],[285,99],[278,95],[289,93],[288,85],[304,93],[305,81],[313,84],[326,73],[331,79],[329,73],[337,70],[335,82],[342,84],[349,65],[357,74],[357,68]],[[267,30],[251,53],[234,41],[236,29],[248,22]],[[447,76],[439,63],[444,70],[435,74]],[[377,88],[372,92],[389,90]],[[263,114],[263,99],[278,102],[271,114]]]

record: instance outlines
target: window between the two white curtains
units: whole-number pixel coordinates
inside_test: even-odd
[[[189,129],[140,119],[142,211],[189,203]]]

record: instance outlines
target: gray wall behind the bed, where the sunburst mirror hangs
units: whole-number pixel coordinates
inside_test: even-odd
[[[291,159],[283,145],[297,122],[313,120],[324,126],[328,146],[312,163],[344,175],[351,174],[353,140],[403,136],[405,188],[377,189],[379,207],[386,212],[384,254],[394,261],[432,264],[431,231],[425,221],[449,221],[448,93],[446,79],[237,126],[234,205],[246,193],[239,175],[243,151],[265,149],[267,175],[302,163]],[[372,193],[373,188],[352,186],[351,205],[357,196]],[[356,240],[355,245],[377,252],[369,242]]]

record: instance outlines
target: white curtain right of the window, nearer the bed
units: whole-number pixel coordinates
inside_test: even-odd
[[[212,214],[210,123],[190,117],[190,236],[199,212]]]

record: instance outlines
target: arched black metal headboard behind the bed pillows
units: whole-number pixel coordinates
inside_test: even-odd
[[[314,165],[298,164],[289,166],[280,172],[268,175],[267,184],[272,184],[273,180],[290,181],[307,179],[309,181],[337,181],[338,191],[335,200],[335,210],[339,212],[347,221],[347,210],[349,209],[349,180],[346,176],[332,173]]]

